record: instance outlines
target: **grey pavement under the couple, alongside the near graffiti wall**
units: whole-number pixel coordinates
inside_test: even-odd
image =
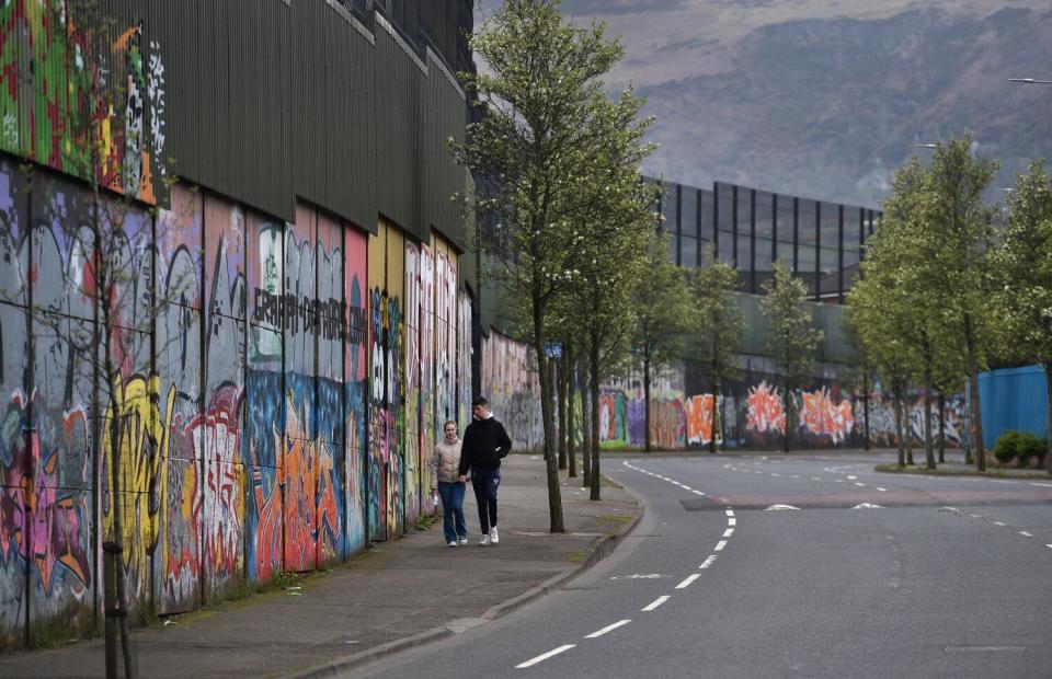
[[[167,619],[134,632],[141,677],[332,676],[499,618],[592,565],[639,520],[641,505],[604,483],[590,502],[563,473],[567,533],[548,533],[545,462],[502,468],[501,542],[478,546],[467,493],[466,546],[447,548],[442,521],[286,589]],[[103,677],[102,640],[0,657],[3,677]]]

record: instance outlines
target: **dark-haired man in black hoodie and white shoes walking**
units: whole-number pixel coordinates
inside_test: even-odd
[[[501,541],[496,532],[496,490],[501,485],[501,460],[512,450],[504,425],[493,417],[489,402],[482,396],[471,402],[472,421],[464,431],[460,447],[461,481],[467,481],[471,470],[471,487],[479,505],[479,523],[482,540],[479,546]]]

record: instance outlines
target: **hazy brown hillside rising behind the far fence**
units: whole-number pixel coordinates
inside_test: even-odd
[[[643,9],[640,9],[643,8]],[[972,131],[998,186],[1052,156],[1052,7],[905,2],[578,0],[622,35],[611,84],[658,117],[649,173],[874,205],[915,149]],[[926,151],[919,151],[926,153]]]

